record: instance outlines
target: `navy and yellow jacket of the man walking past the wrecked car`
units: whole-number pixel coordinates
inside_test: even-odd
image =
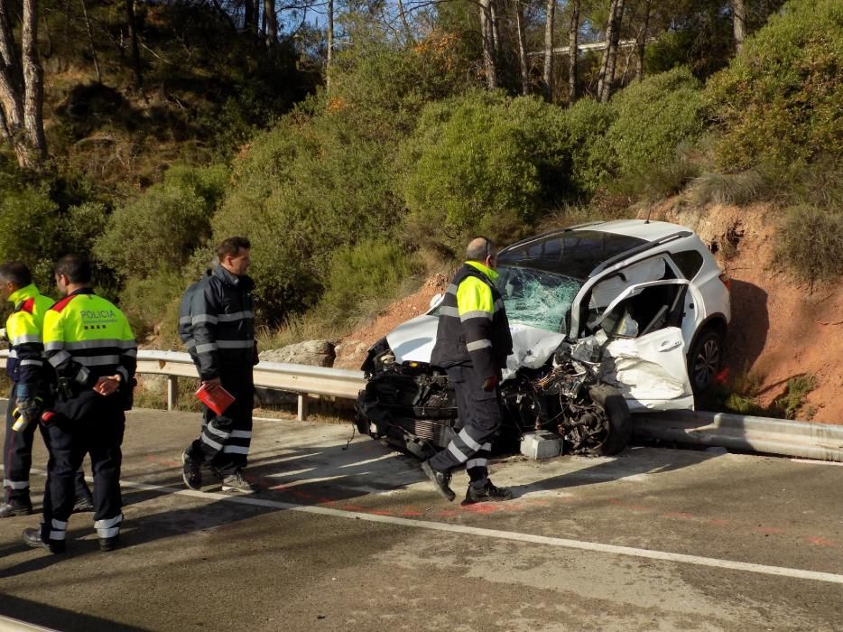
[[[497,375],[513,351],[504,301],[493,281],[497,273],[468,261],[449,285],[439,308],[431,363],[470,365],[481,379]]]

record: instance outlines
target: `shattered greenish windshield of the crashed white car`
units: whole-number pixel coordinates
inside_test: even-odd
[[[565,331],[565,315],[581,281],[533,268],[501,265],[496,281],[510,323],[521,323],[554,333]]]

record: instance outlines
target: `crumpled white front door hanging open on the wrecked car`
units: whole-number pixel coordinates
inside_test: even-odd
[[[688,291],[686,279],[635,283],[591,320],[607,337],[604,380],[632,412],[693,409],[681,331]]]

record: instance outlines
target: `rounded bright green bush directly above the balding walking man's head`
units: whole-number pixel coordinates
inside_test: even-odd
[[[402,155],[415,234],[444,234],[461,248],[485,218],[514,212],[529,225],[560,194],[560,110],[535,98],[485,92],[432,103]]]

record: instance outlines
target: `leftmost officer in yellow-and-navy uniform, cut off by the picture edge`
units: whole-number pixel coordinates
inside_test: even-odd
[[[48,397],[44,384],[42,329],[44,314],[53,301],[38,292],[29,268],[19,261],[0,265],[0,295],[14,306],[6,321],[6,338],[10,345],[6,372],[12,380],[3,452],[5,502],[0,505],[0,518],[6,518],[32,514],[29,493],[32,441],[42,405]],[[79,469],[73,511],[93,510],[90,490]]]

